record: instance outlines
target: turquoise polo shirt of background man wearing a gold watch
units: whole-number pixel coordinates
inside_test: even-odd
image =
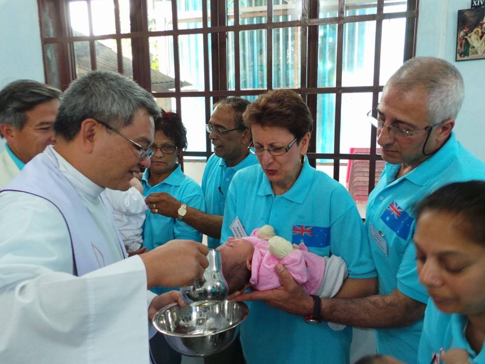
[[[254,164],[258,164],[258,159],[251,153],[234,167],[228,167],[224,159],[215,154],[211,155],[202,176],[202,190],[206,199],[207,213],[220,216],[224,214],[227,190],[232,177],[238,170]],[[209,248],[215,249],[220,245],[220,240],[207,237],[207,244]]]

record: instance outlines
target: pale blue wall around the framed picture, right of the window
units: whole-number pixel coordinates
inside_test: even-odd
[[[485,161],[483,83],[485,60],[455,62],[458,10],[469,9],[470,0],[421,0],[416,56],[434,56],[454,64],[465,80],[465,101],[455,131],[460,142]]]

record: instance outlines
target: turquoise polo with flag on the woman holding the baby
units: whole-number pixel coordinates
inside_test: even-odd
[[[295,184],[275,196],[261,166],[238,171],[226,199],[221,240],[232,236],[238,217],[248,234],[264,224],[293,243],[305,242],[321,256],[347,263],[350,278],[376,276],[362,219],[345,188],[306,161]],[[348,363],[352,328],[334,331],[327,323],[309,325],[303,317],[252,302],[241,324],[248,364]]]

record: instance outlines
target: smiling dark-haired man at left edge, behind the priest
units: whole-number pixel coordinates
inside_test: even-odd
[[[46,146],[54,143],[61,91],[33,80],[17,80],[0,91],[0,188],[7,184]]]

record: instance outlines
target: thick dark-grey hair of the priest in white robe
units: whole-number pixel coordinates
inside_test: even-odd
[[[122,128],[133,122],[133,114],[140,108],[153,117],[160,115],[153,96],[133,80],[115,72],[91,71],[69,85],[54,130],[71,141],[88,118]]]

